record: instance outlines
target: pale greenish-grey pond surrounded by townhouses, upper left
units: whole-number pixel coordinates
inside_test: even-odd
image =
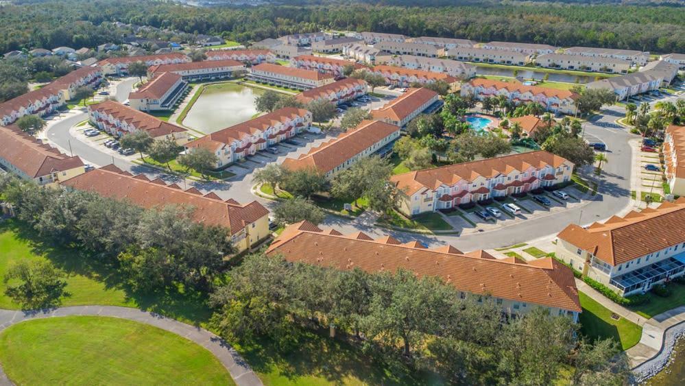
[[[257,113],[254,100],[264,93],[259,88],[240,84],[205,86],[188,111],[183,124],[206,134],[245,122]]]

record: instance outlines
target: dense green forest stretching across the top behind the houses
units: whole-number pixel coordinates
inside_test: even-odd
[[[407,1],[407,3],[411,3]],[[31,1],[0,6],[0,52],[117,41],[111,21],[221,34],[241,43],[321,28],[685,52],[685,8],[486,3],[406,8],[329,2],[195,8],[158,1]]]

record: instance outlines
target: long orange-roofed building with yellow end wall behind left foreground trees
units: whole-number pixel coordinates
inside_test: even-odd
[[[192,208],[194,221],[205,226],[226,228],[237,252],[258,245],[271,234],[269,210],[259,202],[239,204],[232,199],[221,200],[216,193],[203,195],[195,188],[184,191],[177,184],[167,184],[160,178],[149,180],[144,174],[133,176],[114,165],[93,169],[63,181],[62,186],[125,200],[146,209],[166,205]]]

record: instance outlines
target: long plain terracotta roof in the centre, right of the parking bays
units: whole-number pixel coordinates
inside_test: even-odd
[[[297,159],[285,158],[283,166],[291,170],[313,168],[320,173],[328,173],[398,130],[397,126],[382,121],[362,121],[357,128],[312,147]]]

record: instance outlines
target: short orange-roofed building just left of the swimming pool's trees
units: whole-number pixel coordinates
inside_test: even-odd
[[[442,105],[439,95],[428,88],[409,88],[406,93],[392,99],[385,106],[371,111],[373,119],[404,128],[426,109],[436,104]]]

